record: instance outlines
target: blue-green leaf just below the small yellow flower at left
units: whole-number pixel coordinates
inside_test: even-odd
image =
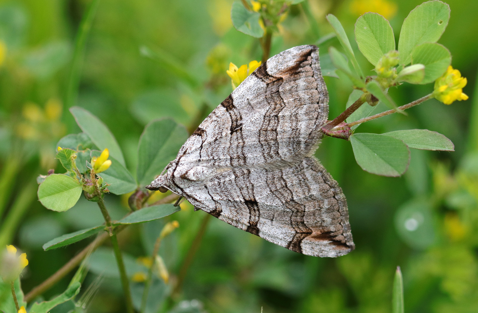
[[[100,156],[101,151],[91,150],[91,156]],[[99,177],[103,177],[104,181],[111,186],[108,186],[108,190],[115,195],[123,195],[136,189],[137,184],[130,171],[126,169],[120,162],[114,157],[109,157],[111,160],[111,166],[104,172],[97,174]]]

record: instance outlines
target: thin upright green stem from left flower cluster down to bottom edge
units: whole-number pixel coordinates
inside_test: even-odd
[[[111,240],[111,245],[113,246],[113,251],[115,253],[116,263],[118,264],[118,270],[120,270],[121,284],[123,285],[123,292],[126,301],[126,310],[128,311],[128,313],[134,313],[133,302],[131,301],[130,282],[128,281],[128,275],[126,275],[126,268],[124,267],[120,246],[118,245],[118,238],[113,232],[113,227],[111,225],[111,217],[109,216],[108,210],[105,206],[105,201],[103,200],[101,192],[99,191],[95,172],[93,170],[91,170],[90,178],[91,182],[93,183],[93,188],[95,188],[95,195],[98,197],[98,207],[103,214],[103,218],[105,219],[106,227],[109,233],[109,239]]]

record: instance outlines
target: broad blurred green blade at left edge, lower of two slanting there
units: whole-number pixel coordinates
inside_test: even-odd
[[[23,216],[36,196],[38,184],[31,179],[18,193],[5,221],[0,228],[0,247],[9,244]]]

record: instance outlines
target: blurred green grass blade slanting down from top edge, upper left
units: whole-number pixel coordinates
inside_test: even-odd
[[[78,87],[80,84],[81,68],[83,66],[83,55],[93,18],[95,17],[96,9],[98,8],[98,0],[91,1],[87,12],[84,14],[78,32],[75,38],[75,51],[73,52],[73,60],[71,63],[71,72],[68,79],[68,86],[66,89],[65,107],[69,108],[75,105],[78,96]]]

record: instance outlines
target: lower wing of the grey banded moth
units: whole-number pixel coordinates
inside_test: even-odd
[[[196,208],[299,253],[337,257],[355,247],[342,189],[314,156],[283,169],[229,169],[185,194]]]

